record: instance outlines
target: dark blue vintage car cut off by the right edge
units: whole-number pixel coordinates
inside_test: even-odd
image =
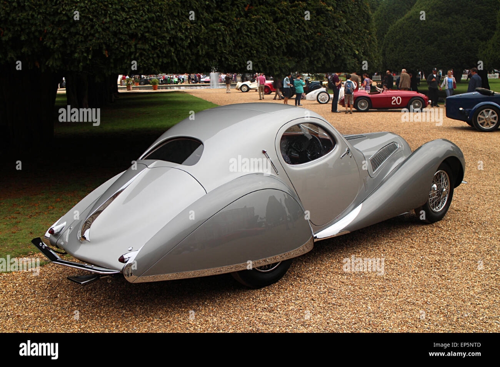
[[[489,89],[476,88],[446,98],[446,117],[465,121],[479,131],[496,130],[499,115],[500,93]]]

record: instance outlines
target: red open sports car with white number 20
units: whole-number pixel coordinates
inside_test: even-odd
[[[345,106],[344,97],[340,98],[338,103]],[[360,112],[368,109],[389,109],[389,108],[408,108],[422,109],[429,103],[425,94],[411,90],[382,90],[366,92],[365,90],[354,91],[354,108]]]

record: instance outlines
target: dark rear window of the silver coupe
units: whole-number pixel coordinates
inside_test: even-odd
[[[142,159],[194,165],[198,162],[202,152],[203,144],[201,141],[189,137],[177,137],[158,144]]]

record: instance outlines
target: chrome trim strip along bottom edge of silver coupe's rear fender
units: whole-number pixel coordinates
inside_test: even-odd
[[[286,260],[286,259],[289,259],[292,257],[297,257],[300,255],[303,255],[304,253],[309,252],[313,246],[314,246],[314,240],[312,237],[310,237],[307,242],[305,242],[300,247],[295,248],[294,250],[291,250],[291,251],[288,251],[285,253],[281,253],[279,255],[263,258],[260,260],[255,260],[255,261],[252,260],[252,267],[272,264],[274,262],[283,261],[283,260]],[[211,269],[174,272],[174,273],[170,273],[170,274],[149,275],[149,276],[133,275],[131,266],[132,266],[131,263],[127,263],[124,266],[123,275],[131,283],[142,283],[142,282],[146,282],[146,281],[160,281],[160,280],[195,278],[195,277],[199,277],[199,276],[217,275],[217,274],[223,274],[226,272],[245,270],[247,263],[243,262],[243,263],[229,265],[229,266],[214,267]]]

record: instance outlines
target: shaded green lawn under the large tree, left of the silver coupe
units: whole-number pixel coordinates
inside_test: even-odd
[[[165,130],[215,104],[185,92],[120,93],[101,108],[100,125],[59,122],[66,106],[58,94],[54,143],[2,176],[0,257],[38,250],[30,243],[100,183],[125,170]],[[3,183],[5,182],[5,183]]]

